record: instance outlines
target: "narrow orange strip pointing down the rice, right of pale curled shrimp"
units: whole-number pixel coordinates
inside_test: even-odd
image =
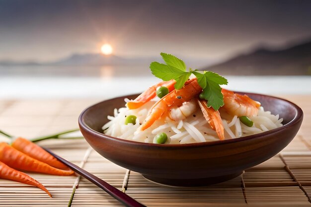
[[[224,126],[219,111],[215,111],[212,107],[207,107],[207,101],[198,99],[199,106],[204,118],[208,121],[211,128],[216,131],[220,140],[225,139]]]

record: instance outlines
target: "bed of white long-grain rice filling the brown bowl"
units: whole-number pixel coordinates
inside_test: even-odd
[[[186,119],[175,122],[169,118],[157,120],[151,127],[144,131],[137,131],[158,98],[153,99],[142,107],[130,110],[126,107],[114,109],[113,116],[107,116],[108,123],[102,129],[104,133],[113,137],[153,143],[155,136],[159,133],[165,133],[168,136],[166,143],[183,144],[205,141],[219,140],[216,131],[209,125],[204,118],[201,110],[198,108]],[[129,100],[126,99],[126,102]],[[135,125],[125,124],[126,116],[135,115],[137,117]],[[221,112],[222,115],[222,112]],[[262,133],[277,127],[281,127],[283,119],[279,119],[279,115],[272,115],[271,112],[264,111],[262,107],[258,110],[258,115],[250,117],[254,122],[252,127],[247,127],[240,122],[237,116],[224,114],[222,122],[225,130],[225,139],[239,138],[243,136]]]

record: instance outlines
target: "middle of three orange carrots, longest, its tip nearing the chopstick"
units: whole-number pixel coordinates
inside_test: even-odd
[[[41,172],[51,175],[72,175],[72,170],[61,170],[52,167],[44,162],[34,159],[17,149],[14,149],[7,143],[0,143],[0,161],[14,169],[27,170],[32,172]]]

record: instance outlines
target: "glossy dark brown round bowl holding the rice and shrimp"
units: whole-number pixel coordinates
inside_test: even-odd
[[[154,144],[114,138],[102,134],[107,115],[124,106],[118,97],[90,106],[79,116],[86,141],[103,157],[139,172],[149,180],[172,186],[202,186],[223,182],[273,157],[296,136],[303,111],[287,100],[267,95],[247,94],[266,111],[279,114],[283,127],[257,135],[191,144]]]

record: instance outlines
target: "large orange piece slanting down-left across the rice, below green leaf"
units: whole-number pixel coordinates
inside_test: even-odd
[[[169,109],[174,106],[181,106],[184,102],[191,100],[202,91],[196,78],[188,80],[184,87],[179,90],[173,90],[166,96],[157,101],[150,109],[146,120],[138,130],[144,131],[149,128],[157,119],[167,115]]]

